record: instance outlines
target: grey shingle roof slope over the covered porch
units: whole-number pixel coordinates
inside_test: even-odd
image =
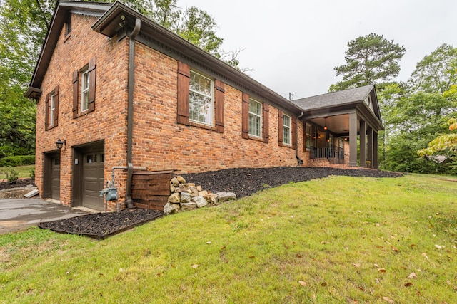
[[[344,105],[362,101],[371,92],[371,90],[373,90],[373,88],[374,85],[365,85],[360,88],[292,100],[292,103],[295,103],[303,110],[328,108],[335,105]]]

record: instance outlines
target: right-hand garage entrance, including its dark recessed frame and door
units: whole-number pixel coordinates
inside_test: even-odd
[[[105,187],[104,142],[74,148],[74,184],[72,206],[104,211],[100,190]]]

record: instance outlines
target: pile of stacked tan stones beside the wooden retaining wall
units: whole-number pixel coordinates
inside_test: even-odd
[[[201,186],[187,183],[181,176],[170,180],[170,192],[168,203],[164,206],[165,214],[194,210],[204,206],[216,206],[223,201],[236,199],[236,194],[232,192],[214,194],[201,189]]]

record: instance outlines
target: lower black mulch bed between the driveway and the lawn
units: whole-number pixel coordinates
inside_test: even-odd
[[[47,221],[38,226],[67,234],[81,234],[95,239],[118,234],[164,215],[164,211],[125,209],[118,212],[88,214],[59,221]]]

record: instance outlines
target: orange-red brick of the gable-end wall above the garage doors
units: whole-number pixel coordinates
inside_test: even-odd
[[[56,150],[57,139],[66,140],[61,151],[61,203],[70,205],[73,155],[71,147],[105,141],[105,179],[111,167],[126,165],[127,39],[120,43],[91,30],[97,18],[72,15],[71,36],[59,36],[51,63],[41,85],[43,95],[36,112],[36,184],[43,193],[44,153]],[[96,56],[95,111],[73,119],[71,73]],[[46,94],[59,85],[59,125],[45,131]],[[120,180],[121,181],[121,180]],[[122,182],[122,181],[121,181]],[[124,182],[125,184],[125,182]]]

